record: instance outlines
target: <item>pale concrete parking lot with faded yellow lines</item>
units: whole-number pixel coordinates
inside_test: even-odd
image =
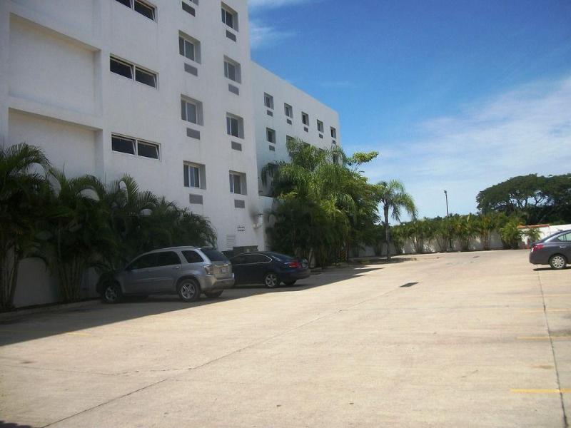
[[[565,427],[571,270],[422,255],[0,322],[17,427]]]

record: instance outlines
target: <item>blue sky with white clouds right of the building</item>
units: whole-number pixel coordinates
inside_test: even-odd
[[[421,216],[571,173],[571,1],[249,0],[252,58],[340,115],[365,174]]]

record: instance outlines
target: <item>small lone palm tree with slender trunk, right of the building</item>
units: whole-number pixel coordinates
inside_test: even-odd
[[[387,243],[387,260],[390,260],[390,230],[388,225],[389,214],[395,221],[400,221],[400,216],[405,210],[413,218],[416,218],[417,210],[413,197],[406,193],[405,186],[398,180],[381,181],[377,184],[377,197],[383,207],[385,219],[385,241]]]

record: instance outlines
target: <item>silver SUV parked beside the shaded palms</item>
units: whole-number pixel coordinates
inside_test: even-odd
[[[232,265],[213,248],[162,248],[139,255],[98,284],[103,300],[116,303],[128,295],[178,294],[196,302],[201,293],[219,297],[234,285]]]

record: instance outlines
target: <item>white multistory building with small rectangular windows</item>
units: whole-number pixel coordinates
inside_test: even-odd
[[[338,129],[251,62],[246,0],[0,1],[0,144],[69,176],[132,175],[210,218],[221,250],[266,248],[259,171],[286,136],[328,146]]]

